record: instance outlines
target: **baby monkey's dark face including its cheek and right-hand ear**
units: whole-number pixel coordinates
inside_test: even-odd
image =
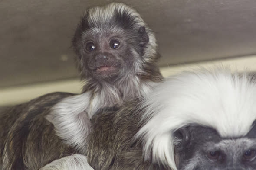
[[[119,31],[93,32],[89,30],[81,39],[80,61],[82,71],[97,80],[113,80],[135,72],[143,55],[148,34],[141,26],[129,33]]]

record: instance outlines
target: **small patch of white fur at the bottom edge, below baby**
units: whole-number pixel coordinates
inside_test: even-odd
[[[87,162],[87,157],[73,154],[54,160],[39,170],[94,170]]]

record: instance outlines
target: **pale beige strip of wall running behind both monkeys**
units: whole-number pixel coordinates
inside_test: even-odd
[[[242,72],[247,69],[248,72],[256,72],[256,56],[246,56],[192,64],[177,64],[171,67],[161,67],[161,72],[165,77],[167,77],[184,70],[196,70],[199,69],[199,67],[212,68],[216,66],[230,67],[232,71]],[[82,87],[79,79],[0,88],[0,106],[23,103],[43,94],[56,91],[80,93],[81,88]]]

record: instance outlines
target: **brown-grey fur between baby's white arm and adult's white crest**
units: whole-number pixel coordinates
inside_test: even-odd
[[[95,170],[168,170],[144,161],[141,141],[134,139],[143,115],[137,106],[135,100],[117,112],[104,111],[93,117],[87,155]]]

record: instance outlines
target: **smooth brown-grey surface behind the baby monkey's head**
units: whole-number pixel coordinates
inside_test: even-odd
[[[75,27],[87,7],[109,2],[0,0],[0,90],[77,78]],[[118,2],[134,7],[156,33],[160,66],[256,54],[255,0]]]

